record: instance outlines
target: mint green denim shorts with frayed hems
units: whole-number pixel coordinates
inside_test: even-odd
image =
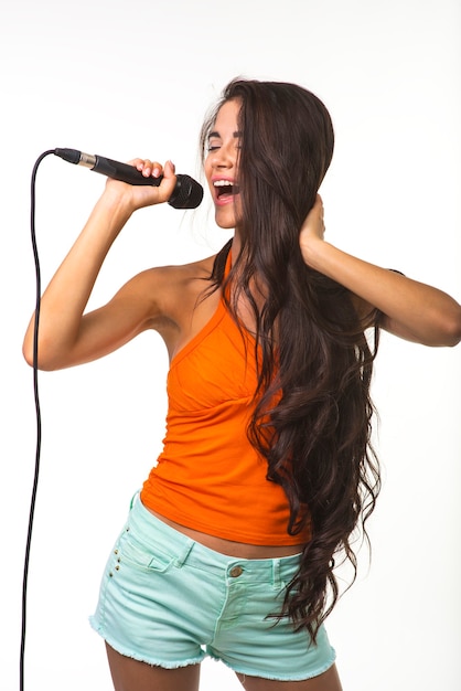
[[[221,554],[167,525],[141,503],[108,560],[93,628],[121,655],[167,669],[222,660],[235,672],[300,681],[335,653],[322,626],[313,645],[280,612],[299,555],[245,560]]]

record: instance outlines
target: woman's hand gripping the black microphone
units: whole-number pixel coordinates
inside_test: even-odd
[[[158,161],[136,158],[129,161],[129,166],[133,166],[144,178],[158,179],[163,176],[160,185],[127,184],[126,182],[108,178],[105,194],[121,196],[130,213],[143,206],[168,202],[176,184],[174,164],[171,161],[167,161],[162,166]]]

